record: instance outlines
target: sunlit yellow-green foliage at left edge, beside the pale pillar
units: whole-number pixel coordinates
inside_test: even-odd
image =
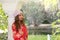
[[[5,15],[2,4],[0,3],[0,29],[7,29],[7,25],[7,16]]]

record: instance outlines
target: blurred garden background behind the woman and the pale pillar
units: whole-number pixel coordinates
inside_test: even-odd
[[[3,10],[2,2],[0,40],[7,40],[8,15]],[[20,0],[16,9],[23,10],[28,40],[60,40],[60,0]]]

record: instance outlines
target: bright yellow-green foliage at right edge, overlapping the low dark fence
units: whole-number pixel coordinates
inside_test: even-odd
[[[60,11],[57,12],[58,19],[54,22],[52,22],[52,28],[56,28],[56,31],[54,32],[52,30],[52,33],[55,35],[57,32],[60,32]]]

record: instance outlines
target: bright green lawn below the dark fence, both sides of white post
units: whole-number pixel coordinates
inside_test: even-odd
[[[60,35],[51,35],[50,40],[60,40]],[[28,40],[47,40],[47,35],[29,35]]]

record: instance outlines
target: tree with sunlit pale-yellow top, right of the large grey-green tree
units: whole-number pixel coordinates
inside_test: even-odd
[[[58,11],[57,0],[44,0],[46,19],[52,23],[57,19],[56,13]]]

